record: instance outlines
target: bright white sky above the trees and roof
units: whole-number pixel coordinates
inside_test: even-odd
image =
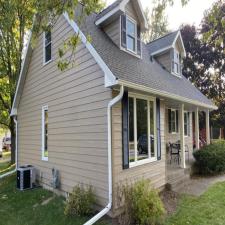
[[[106,0],[107,4],[115,0]],[[143,8],[151,8],[152,0],[140,0]],[[167,9],[168,23],[170,30],[176,30],[181,24],[195,24],[198,26],[204,15],[215,0],[190,0],[188,5],[182,7],[181,0],[174,0],[175,4]]]

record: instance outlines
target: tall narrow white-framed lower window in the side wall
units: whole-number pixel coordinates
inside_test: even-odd
[[[48,160],[48,106],[42,107],[42,160]]]

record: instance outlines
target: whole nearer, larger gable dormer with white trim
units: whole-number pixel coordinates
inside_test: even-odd
[[[123,51],[141,56],[141,32],[147,29],[139,0],[117,0],[103,10],[95,24]]]

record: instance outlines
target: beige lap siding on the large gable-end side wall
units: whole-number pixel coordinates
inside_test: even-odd
[[[52,31],[53,61],[43,66],[43,35],[32,53],[18,108],[19,165],[32,164],[45,186],[52,168],[60,173],[63,192],[78,184],[92,185],[98,204],[108,201],[107,105],[112,95],[104,74],[83,44],[76,50],[76,66],[57,68],[58,48],[74,34],[64,17]],[[69,55],[67,55],[69,56]],[[48,105],[48,161],[41,160],[42,106]]]

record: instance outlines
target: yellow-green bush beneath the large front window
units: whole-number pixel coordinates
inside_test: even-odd
[[[163,203],[149,180],[124,186],[123,195],[124,213],[119,218],[120,224],[155,225],[163,221]]]

